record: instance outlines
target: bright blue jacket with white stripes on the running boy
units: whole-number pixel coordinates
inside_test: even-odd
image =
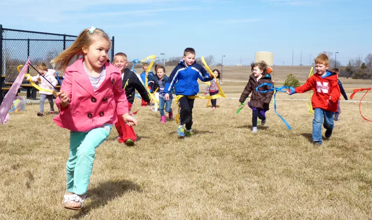
[[[176,95],[195,96],[199,92],[198,78],[202,81],[209,81],[209,73],[203,66],[194,62],[187,67],[184,61],[180,61],[173,69],[168,81],[165,84],[164,93],[170,93],[175,84]]]

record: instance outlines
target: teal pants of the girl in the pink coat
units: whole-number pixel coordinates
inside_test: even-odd
[[[70,134],[70,156],[67,160],[67,192],[83,195],[89,185],[96,148],[110,134],[112,124],[103,124],[89,132]]]

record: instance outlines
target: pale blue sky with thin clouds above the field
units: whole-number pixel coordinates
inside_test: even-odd
[[[257,51],[274,64],[309,65],[322,51],[337,60],[372,53],[369,0],[4,0],[4,28],[78,35],[94,25],[115,36],[115,52],[133,60],[165,53],[248,64]]]

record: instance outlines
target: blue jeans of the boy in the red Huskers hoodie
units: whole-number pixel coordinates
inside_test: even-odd
[[[324,116],[323,127],[327,130],[332,130],[334,112],[325,111],[321,108],[314,109],[314,119],[312,120],[312,140],[322,141],[322,123]]]

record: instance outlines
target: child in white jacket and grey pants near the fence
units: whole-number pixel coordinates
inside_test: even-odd
[[[52,69],[48,69],[46,64],[43,63],[43,62],[39,62],[36,65],[36,69],[38,70],[39,74],[35,77],[31,77],[31,81],[39,82],[39,87],[42,88],[42,89],[53,91],[53,89],[54,89],[53,86],[56,86],[57,83],[58,83],[56,78],[54,77],[54,74],[56,73],[56,71],[52,70]],[[44,79],[44,77],[45,77],[46,80],[48,80],[52,84],[47,82]],[[30,77],[27,76],[27,80],[30,80]],[[43,116],[44,100],[45,99],[48,99],[49,104],[50,104],[50,112],[49,113],[51,115],[53,115],[54,114],[54,102],[53,102],[54,95],[53,95],[53,92],[39,91],[39,94],[40,94],[40,112],[38,112],[36,115],[40,116],[40,117]]]

